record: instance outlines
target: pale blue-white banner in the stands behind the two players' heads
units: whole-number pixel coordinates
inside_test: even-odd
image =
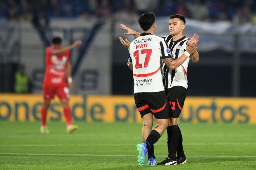
[[[123,35],[125,30],[116,24],[116,36]],[[125,23],[123,23],[125,24]],[[169,16],[157,17],[156,19],[156,33],[157,36],[167,36],[169,33]],[[138,32],[141,32],[139,24],[126,24]],[[210,51],[216,49],[223,49],[228,52],[235,50],[235,36],[238,35],[239,50],[242,52],[256,52],[256,26],[247,24],[244,26],[234,26],[231,22],[203,22],[192,19],[186,19],[186,28],[184,34],[187,37],[192,37],[196,33],[199,35],[199,42],[197,44],[198,51]],[[133,36],[123,36],[132,41]]]

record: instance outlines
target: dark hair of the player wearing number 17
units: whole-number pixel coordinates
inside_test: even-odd
[[[147,12],[139,17],[138,22],[142,30],[147,31],[155,23],[155,20],[155,14],[153,12]]]

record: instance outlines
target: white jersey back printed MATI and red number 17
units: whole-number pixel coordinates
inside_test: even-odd
[[[129,49],[133,65],[134,93],[163,91],[161,58],[170,58],[171,51],[163,38],[142,33]]]

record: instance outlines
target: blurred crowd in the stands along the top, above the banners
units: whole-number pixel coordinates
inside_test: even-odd
[[[45,22],[52,17],[84,17],[105,21],[137,22],[153,11],[156,16],[182,14],[201,21],[232,21],[235,25],[256,23],[254,0],[1,0],[0,18]]]

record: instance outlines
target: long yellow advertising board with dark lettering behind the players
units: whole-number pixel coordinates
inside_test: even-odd
[[[43,102],[36,94],[0,94],[0,120],[40,121]],[[179,120],[193,123],[256,124],[256,98],[187,97]],[[71,95],[75,121],[141,122],[134,96]],[[48,111],[48,121],[64,121],[63,108],[56,97]]]

